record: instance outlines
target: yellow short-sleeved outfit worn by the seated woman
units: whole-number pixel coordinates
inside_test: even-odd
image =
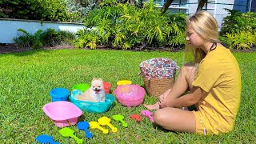
[[[206,94],[195,105],[196,131],[219,134],[233,130],[241,96],[241,74],[230,50],[218,46],[210,50],[198,66],[192,82]]]

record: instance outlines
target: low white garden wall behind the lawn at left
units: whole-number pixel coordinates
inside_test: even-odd
[[[34,34],[38,30],[47,30],[48,28],[75,33],[79,29],[83,29],[84,25],[67,22],[41,23],[41,21],[0,18],[0,43],[14,43],[13,38],[17,38],[20,33],[17,31],[18,29],[23,29],[30,34]]]

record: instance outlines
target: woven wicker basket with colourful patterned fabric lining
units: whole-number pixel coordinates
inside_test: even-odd
[[[152,58],[140,64],[140,70],[146,91],[158,98],[174,85],[176,62],[168,58]]]

